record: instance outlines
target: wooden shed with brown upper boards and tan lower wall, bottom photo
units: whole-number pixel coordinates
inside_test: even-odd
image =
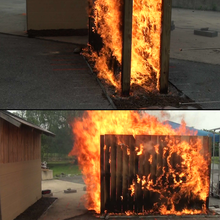
[[[0,111],[0,220],[12,220],[41,198],[41,134],[55,136]]]

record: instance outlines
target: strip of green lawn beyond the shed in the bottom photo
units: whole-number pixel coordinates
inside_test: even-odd
[[[48,162],[47,166],[50,170],[53,170],[53,176],[64,174],[80,175],[78,165],[74,165],[68,161]]]

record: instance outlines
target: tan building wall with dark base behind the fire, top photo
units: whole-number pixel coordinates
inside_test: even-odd
[[[26,0],[29,36],[88,34],[88,0]]]

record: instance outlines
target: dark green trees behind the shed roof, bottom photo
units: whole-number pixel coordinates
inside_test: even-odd
[[[56,134],[55,137],[42,135],[42,158],[49,153],[68,155],[73,147],[74,137],[71,122],[75,117],[82,116],[83,111],[40,111],[25,110],[14,114],[24,118],[30,123],[38,125]]]

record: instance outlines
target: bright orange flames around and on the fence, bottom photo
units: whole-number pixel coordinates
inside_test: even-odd
[[[73,124],[74,146],[69,155],[77,155],[80,169],[84,175],[84,181],[87,185],[87,203],[89,210],[95,210],[100,213],[100,135],[195,135],[186,128],[184,121],[178,130],[171,128],[169,124],[160,122],[155,116],[151,116],[145,112],[138,111],[87,111],[82,118],[76,119]],[[167,136],[168,138],[168,136]],[[169,166],[169,175],[174,179],[174,187],[180,187],[179,193],[194,194],[202,201],[206,201],[209,193],[209,175],[208,163],[200,154],[201,141],[189,144],[187,142],[168,141],[170,155],[167,163]],[[151,146],[152,147],[152,146]],[[153,146],[158,151],[158,146]],[[137,155],[144,154],[148,146],[140,144],[136,146]],[[182,181],[176,178],[177,173],[169,164],[172,153],[176,153],[181,157],[182,170],[178,173],[178,178],[185,178]],[[129,152],[128,152],[129,154]],[[152,157],[149,162],[152,163]],[[110,161],[111,162],[111,161]],[[137,184],[149,191],[157,189],[149,177],[139,177],[137,175]],[[158,180],[158,184],[160,181]],[[134,194],[134,186],[129,188]],[[162,191],[165,191],[164,188]],[[161,192],[163,194],[163,192]],[[160,214],[198,214],[206,213],[205,204],[202,210],[175,210],[173,200],[178,198],[179,194],[170,195],[169,204],[160,207]],[[169,205],[169,207],[168,207]],[[129,214],[129,213],[127,213]]]

